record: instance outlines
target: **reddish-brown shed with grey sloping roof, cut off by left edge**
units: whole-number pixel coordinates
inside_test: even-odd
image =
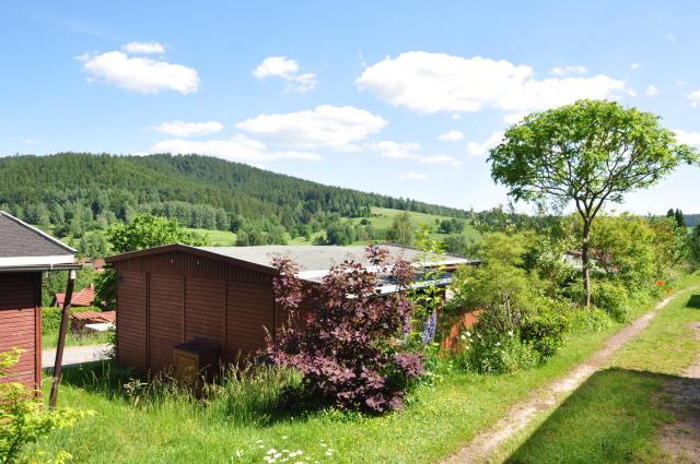
[[[75,250],[0,211],[0,353],[23,350],[10,377],[42,381],[42,273],[79,269]]]

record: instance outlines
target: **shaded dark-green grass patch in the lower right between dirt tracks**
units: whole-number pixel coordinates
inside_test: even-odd
[[[510,464],[657,462],[657,431],[674,421],[665,386],[700,381],[610,368],[591,376],[505,461]]]

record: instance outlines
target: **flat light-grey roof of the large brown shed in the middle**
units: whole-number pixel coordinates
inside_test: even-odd
[[[383,245],[387,248],[392,258],[402,258],[407,261],[416,261],[421,259],[421,252],[396,245]],[[318,246],[318,245],[267,245],[259,247],[197,247],[210,253],[217,253],[222,257],[233,258],[242,261],[252,262],[258,265],[269,266],[272,258],[277,255],[288,257],[299,264],[300,271],[326,271],[335,264],[340,264],[350,258],[355,262],[364,265],[371,265],[370,260],[365,255],[365,247],[362,246]],[[466,258],[452,254],[433,254],[427,257],[431,262],[470,262]]]

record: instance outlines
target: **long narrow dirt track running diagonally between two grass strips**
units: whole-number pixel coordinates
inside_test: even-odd
[[[448,457],[443,464],[488,463],[491,454],[506,440],[525,429],[540,413],[551,411],[571,392],[576,390],[592,373],[604,368],[610,356],[622,345],[642,332],[652,319],[674,299],[672,295],[654,309],[607,340],[605,347],[595,352],[588,360],[549,385],[533,392],[515,404],[506,416],[493,427],[477,435],[466,447]]]

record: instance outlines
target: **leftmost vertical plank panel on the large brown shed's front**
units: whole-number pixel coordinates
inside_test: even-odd
[[[119,272],[117,358],[120,366],[145,370],[145,274]]]

